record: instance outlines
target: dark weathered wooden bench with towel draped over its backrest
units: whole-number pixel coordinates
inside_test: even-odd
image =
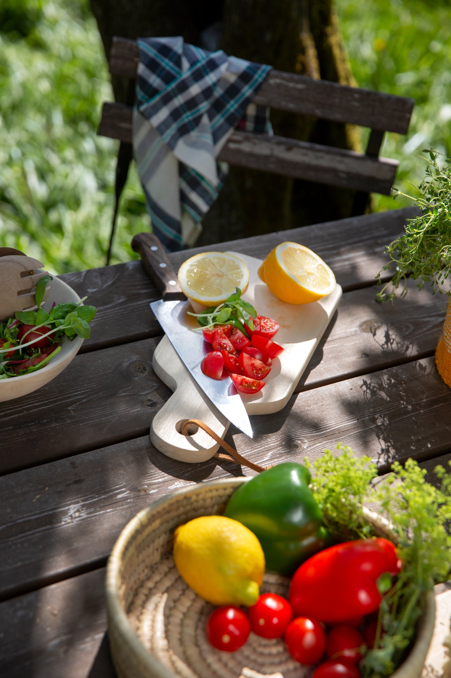
[[[113,38],[110,73],[129,78],[129,92],[134,91],[132,87],[138,61],[136,41]],[[370,127],[366,153],[235,130],[222,148],[219,160],[331,186],[353,188],[356,194],[352,216],[364,213],[369,193],[389,195],[398,161],[379,157],[379,150],[385,132],[406,134],[413,99],[273,70],[254,97],[254,103],[335,123]],[[130,144],[132,106],[103,104],[99,134]]]

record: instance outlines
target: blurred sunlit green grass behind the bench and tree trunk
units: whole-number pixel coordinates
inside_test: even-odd
[[[408,136],[386,135],[382,149],[400,161],[396,186],[414,195],[421,150],[451,155],[449,0],[337,0],[337,9],[358,85],[417,101]],[[104,264],[117,145],[96,130],[112,98],[87,0],[1,0],[0,245],[55,273]],[[404,204],[374,197],[375,210]],[[148,228],[133,166],[112,263],[136,258],[130,240]]]

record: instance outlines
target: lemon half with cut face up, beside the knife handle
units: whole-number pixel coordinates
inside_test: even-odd
[[[249,268],[239,257],[226,252],[202,252],[179,268],[179,283],[189,299],[202,306],[218,306],[239,287],[249,285]]]

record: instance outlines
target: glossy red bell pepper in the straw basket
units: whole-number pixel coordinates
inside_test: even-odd
[[[346,622],[375,612],[381,602],[377,579],[398,574],[396,547],[387,539],[358,539],[331,546],[302,563],[289,592],[295,616]]]

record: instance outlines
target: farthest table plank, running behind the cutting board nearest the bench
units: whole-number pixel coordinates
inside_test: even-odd
[[[354,290],[374,283],[386,261],[383,246],[398,236],[406,218],[417,214],[417,207],[367,214],[325,224],[293,228],[268,235],[218,243],[215,250],[234,250],[265,258],[281,241],[300,242],[317,252],[333,269],[343,290]],[[185,259],[211,250],[211,246],[170,254],[176,270]],[[387,275],[388,273],[388,275]],[[383,279],[389,279],[389,272]],[[66,273],[62,279],[80,296],[88,295],[97,306],[91,338],[83,342],[82,353],[136,341],[160,334],[149,303],[160,298],[155,285],[145,275],[139,261],[115,266]]]

